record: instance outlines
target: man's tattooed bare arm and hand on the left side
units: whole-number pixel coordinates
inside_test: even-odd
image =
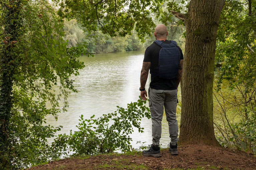
[[[150,66],[151,66],[151,62],[143,62],[142,70],[141,70],[141,89],[145,88],[145,85],[146,85],[146,82],[148,79],[148,75],[149,75]],[[144,100],[147,100],[145,95],[146,95],[146,97],[148,96],[147,91],[146,90],[141,91],[141,98]]]

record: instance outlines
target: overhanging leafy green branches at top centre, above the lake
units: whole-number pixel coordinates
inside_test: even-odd
[[[73,1],[55,0],[60,5],[59,16],[76,18],[83,27],[91,31],[101,30],[114,37],[125,36],[135,29],[140,39],[154,30],[152,12],[160,14],[161,1]]]

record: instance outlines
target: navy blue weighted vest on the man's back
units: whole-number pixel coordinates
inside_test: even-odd
[[[150,68],[150,74],[159,76],[161,79],[174,79],[179,71],[180,51],[176,47],[176,41],[164,44],[160,40],[154,41],[162,49],[159,52],[159,67]]]

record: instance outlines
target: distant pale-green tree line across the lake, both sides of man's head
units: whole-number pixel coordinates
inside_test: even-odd
[[[160,21],[155,21],[159,22]],[[117,51],[133,51],[133,50],[144,50],[153,41],[155,37],[147,37],[144,42],[141,42],[137,36],[137,32],[134,30],[131,35],[125,37],[115,36],[110,37],[105,35],[102,31],[89,33],[85,27],[82,27],[75,19],[64,20],[64,40],[68,42],[67,48],[77,47],[82,43],[86,44],[87,52],[89,53],[112,53]],[[185,38],[183,33],[185,27],[183,25],[173,25],[174,23],[167,24],[169,31],[168,39],[177,41],[180,47],[185,47]]]

